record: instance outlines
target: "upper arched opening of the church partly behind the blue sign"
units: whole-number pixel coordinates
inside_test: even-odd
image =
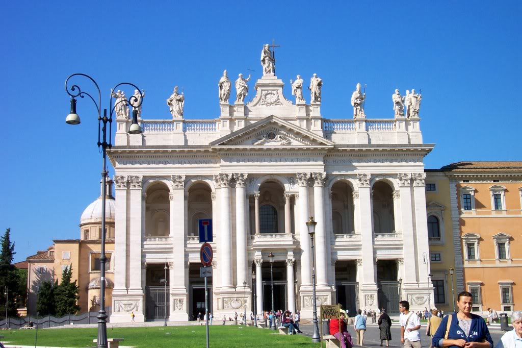
[[[212,190],[206,182],[195,183],[188,189],[188,235],[198,235],[198,219],[211,218]]]

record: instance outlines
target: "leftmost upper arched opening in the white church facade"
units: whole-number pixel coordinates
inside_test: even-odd
[[[162,182],[147,189],[145,202],[145,236],[162,237],[170,233],[169,188]]]

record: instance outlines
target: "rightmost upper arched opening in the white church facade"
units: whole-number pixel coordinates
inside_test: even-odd
[[[373,185],[372,204],[374,233],[394,233],[393,189],[387,182],[378,181]]]

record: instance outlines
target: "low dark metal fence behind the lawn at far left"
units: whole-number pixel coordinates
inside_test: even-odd
[[[107,312],[107,322],[109,322],[109,318],[111,316],[111,307],[106,307],[105,311]],[[98,323],[98,319],[96,316],[98,312],[85,312],[79,315],[66,315],[63,317],[55,317],[55,316],[45,316],[45,317],[23,317],[23,318],[7,318],[7,328],[9,329],[19,329],[21,327],[27,326],[30,321],[33,322],[33,326],[38,328],[55,328],[58,326],[70,325],[70,324],[96,324]],[[0,328],[5,329],[6,321],[5,319],[0,320]]]

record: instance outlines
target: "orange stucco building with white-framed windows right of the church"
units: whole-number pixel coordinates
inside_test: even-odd
[[[522,305],[522,162],[467,161],[441,168],[452,202],[455,282],[473,311]]]

